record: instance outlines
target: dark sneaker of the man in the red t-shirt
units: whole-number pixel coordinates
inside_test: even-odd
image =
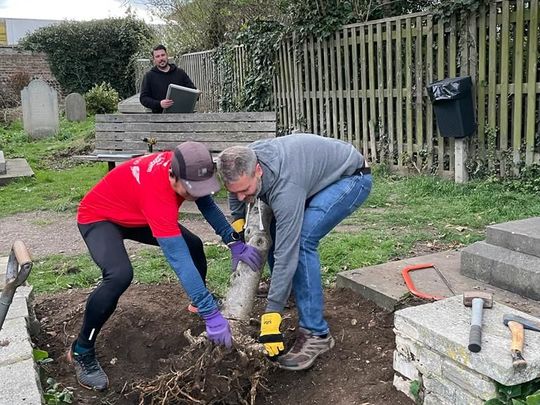
[[[75,367],[77,381],[84,388],[96,391],[105,391],[109,387],[109,378],[99,365],[94,348],[85,353],[74,351],[75,342],[68,351],[68,361]]]

